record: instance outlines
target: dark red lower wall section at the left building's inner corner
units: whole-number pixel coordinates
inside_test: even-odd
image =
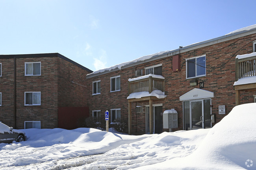
[[[81,128],[87,117],[89,117],[89,107],[59,107],[58,128],[68,130]]]

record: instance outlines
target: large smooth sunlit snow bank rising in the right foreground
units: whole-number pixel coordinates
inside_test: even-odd
[[[250,160],[256,160],[255,122],[256,103],[236,106],[221,122],[211,128],[192,154],[138,169],[224,170],[248,168],[251,165]],[[255,169],[255,167],[256,165],[253,165],[250,168]]]

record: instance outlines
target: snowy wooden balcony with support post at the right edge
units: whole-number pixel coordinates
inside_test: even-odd
[[[236,56],[236,105],[240,104],[240,91],[256,91],[256,52]]]

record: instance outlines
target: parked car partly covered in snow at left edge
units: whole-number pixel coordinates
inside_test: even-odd
[[[0,143],[11,143],[13,141],[26,141],[26,134],[22,130],[16,130],[0,122]]]

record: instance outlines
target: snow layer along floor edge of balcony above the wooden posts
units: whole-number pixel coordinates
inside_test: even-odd
[[[136,93],[131,93],[127,99],[140,99],[141,97],[148,97],[148,96],[155,96],[158,99],[163,99],[166,97],[165,92],[161,90],[154,90],[151,93],[148,91],[141,91],[141,92],[136,92]]]

